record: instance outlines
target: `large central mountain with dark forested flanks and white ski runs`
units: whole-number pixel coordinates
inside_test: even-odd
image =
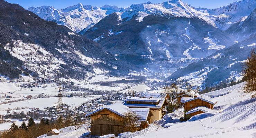
[[[112,13],[80,33],[116,57],[144,65],[198,60],[234,44],[235,39],[213,23],[181,0],[170,0],[132,4],[128,10]]]

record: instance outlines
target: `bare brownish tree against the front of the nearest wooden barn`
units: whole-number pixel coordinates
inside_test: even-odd
[[[124,115],[125,118],[122,121],[124,123],[125,131],[135,132],[136,130],[139,130],[141,117],[137,112],[128,110]]]

